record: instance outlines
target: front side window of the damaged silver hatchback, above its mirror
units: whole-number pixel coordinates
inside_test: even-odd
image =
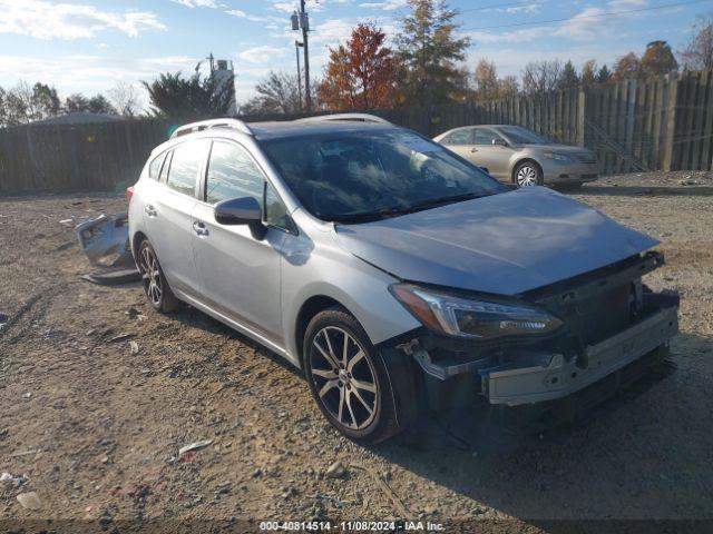
[[[264,182],[263,174],[244,148],[233,142],[213,142],[206,177],[206,202],[254,197],[262,204]]]

